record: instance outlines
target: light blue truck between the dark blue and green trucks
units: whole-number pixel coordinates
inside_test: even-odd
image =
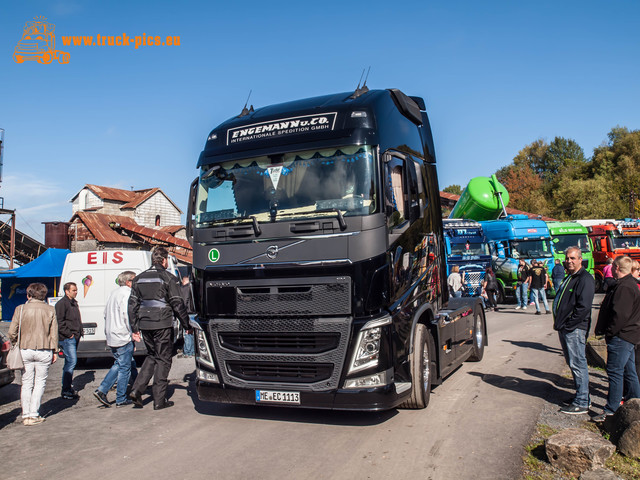
[[[498,303],[515,295],[519,260],[538,260],[553,268],[553,250],[547,224],[526,215],[509,215],[500,220],[480,222],[489,240],[493,269],[498,279]]]

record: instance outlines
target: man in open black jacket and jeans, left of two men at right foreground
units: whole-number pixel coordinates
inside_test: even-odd
[[[591,327],[595,282],[582,268],[582,251],[578,247],[567,248],[565,258],[568,276],[553,301],[553,328],[558,331],[562,352],[576,388],[575,398],[565,402],[560,411],[578,415],[589,412],[589,367],[585,348]]]

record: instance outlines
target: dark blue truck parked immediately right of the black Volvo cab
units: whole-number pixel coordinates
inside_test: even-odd
[[[475,220],[447,218],[442,220],[442,227],[447,254],[447,275],[457,265],[462,275],[462,295],[480,295],[485,269],[491,265],[489,245],[482,225]]]

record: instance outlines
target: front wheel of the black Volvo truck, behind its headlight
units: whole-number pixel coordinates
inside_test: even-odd
[[[435,372],[436,349],[433,337],[427,327],[421,323],[416,325],[411,353],[411,397],[404,402],[402,408],[425,408],[429,405],[431,382]]]

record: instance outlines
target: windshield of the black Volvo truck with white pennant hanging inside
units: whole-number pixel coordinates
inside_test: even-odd
[[[202,168],[196,226],[296,217],[376,213],[375,153],[370,146],[306,150]]]

